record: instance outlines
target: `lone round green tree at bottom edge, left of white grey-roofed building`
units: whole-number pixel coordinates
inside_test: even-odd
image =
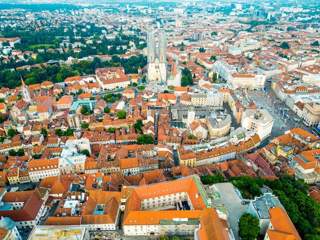
[[[260,233],[259,219],[250,213],[243,213],[239,219],[239,235],[243,240],[255,240]]]

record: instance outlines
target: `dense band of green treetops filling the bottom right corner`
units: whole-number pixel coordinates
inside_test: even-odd
[[[303,239],[318,239],[320,236],[320,232],[317,230],[320,226],[320,203],[307,195],[309,186],[303,179],[293,180],[291,176],[283,174],[279,180],[273,181],[253,179],[249,176],[231,177],[230,181],[239,188],[244,198],[260,196],[261,192],[260,189],[258,192],[258,188],[263,184],[267,185],[279,198]]]

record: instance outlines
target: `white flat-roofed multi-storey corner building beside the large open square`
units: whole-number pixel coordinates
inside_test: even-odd
[[[265,109],[247,109],[243,112],[241,127],[252,129],[263,140],[271,134],[274,119]]]

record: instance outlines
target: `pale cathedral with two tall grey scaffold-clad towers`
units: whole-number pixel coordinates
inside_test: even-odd
[[[167,35],[159,32],[156,51],[154,33],[147,33],[148,80],[167,82]]]

